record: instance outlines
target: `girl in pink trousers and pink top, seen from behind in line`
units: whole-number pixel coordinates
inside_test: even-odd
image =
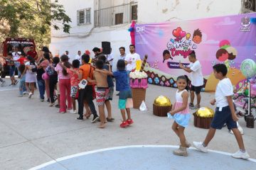
[[[71,64],[68,62],[68,56],[63,55],[60,57],[61,64],[70,68]],[[70,75],[68,72],[60,66],[60,63],[55,67],[55,71],[58,73],[59,88],[60,88],[60,113],[66,113],[66,100],[68,101],[68,110],[72,109],[71,97],[70,97]]]

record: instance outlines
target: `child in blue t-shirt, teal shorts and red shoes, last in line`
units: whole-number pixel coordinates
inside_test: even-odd
[[[114,76],[116,79],[116,88],[117,91],[119,91],[119,101],[118,101],[118,106],[119,109],[122,113],[122,123],[120,124],[121,128],[125,128],[128,125],[131,125],[134,123],[134,121],[131,118],[131,112],[128,106],[128,100],[132,100],[132,92],[129,88],[128,84],[128,74],[127,71],[125,70],[125,62],[124,60],[118,60],[117,62],[117,72],[107,72],[107,71],[102,71],[99,69],[96,69],[95,71],[97,72],[103,72],[105,74],[108,74],[110,76]],[[127,117],[125,116],[125,111],[127,111]]]

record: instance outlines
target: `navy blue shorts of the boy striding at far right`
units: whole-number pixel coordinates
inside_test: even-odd
[[[232,113],[229,106],[223,108],[216,108],[210,128],[221,129],[224,124],[227,124],[228,129],[238,128],[237,123],[232,118]]]

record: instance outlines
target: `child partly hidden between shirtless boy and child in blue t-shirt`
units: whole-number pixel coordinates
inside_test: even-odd
[[[106,57],[105,55],[99,55],[97,57],[97,60],[102,60],[104,65],[103,65],[103,69],[107,69],[108,71],[111,71],[110,69],[110,65],[106,64]],[[113,93],[114,93],[114,82],[111,76],[107,76],[107,84],[108,84],[108,94],[107,94],[107,99],[105,101],[105,105],[107,108],[107,121],[108,122],[113,122],[114,118],[112,118],[112,109],[111,109],[111,103],[110,101],[112,101],[113,98]]]

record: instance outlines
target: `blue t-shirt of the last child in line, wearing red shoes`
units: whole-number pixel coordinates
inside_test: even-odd
[[[129,84],[128,84],[128,74],[127,71],[117,71],[113,72],[113,76],[116,79],[116,88],[117,91],[127,91],[129,90]]]

